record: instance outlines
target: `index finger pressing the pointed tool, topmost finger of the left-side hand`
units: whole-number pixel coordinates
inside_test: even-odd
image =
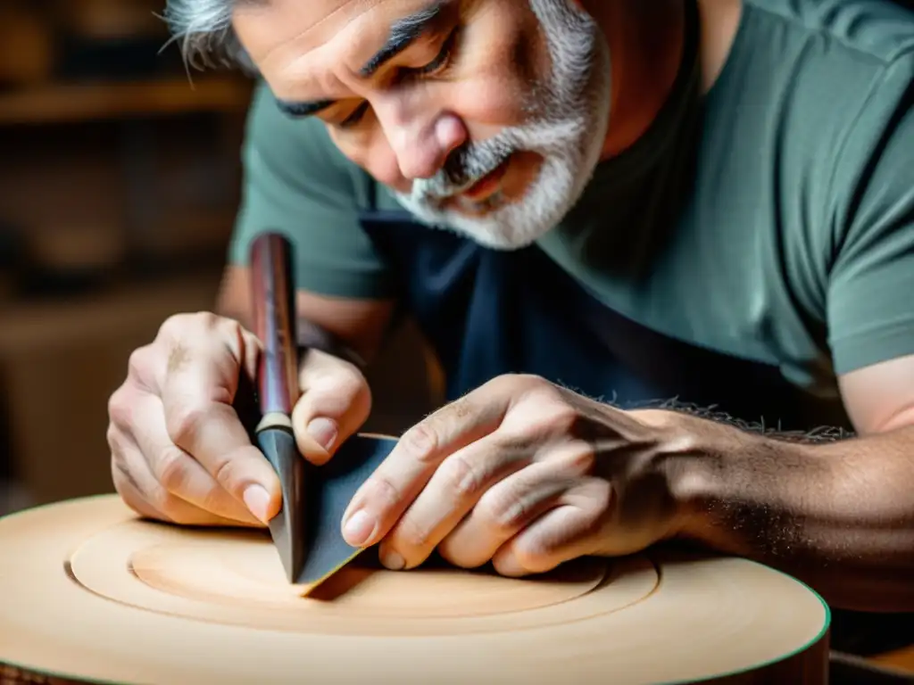
[[[238,385],[238,361],[228,342],[218,338],[207,337],[183,349],[181,363],[172,364],[161,388],[168,437],[237,501],[246,506],[261,502],[261,511],[271,519],[282,505],[279,478],[251,444],[230,404]]]

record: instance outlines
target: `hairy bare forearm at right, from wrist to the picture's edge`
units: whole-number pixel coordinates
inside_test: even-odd
[[[914,610],[914,428],[824,444],[692,416],[682,536],[781,568],[835,607]]]

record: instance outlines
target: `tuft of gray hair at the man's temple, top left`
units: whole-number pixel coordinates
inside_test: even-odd
[[[259,0],[167,0],[162,18],[168,24],[188,66],[255,67],[241,47],[231,24],[232,10],[240,2]]]

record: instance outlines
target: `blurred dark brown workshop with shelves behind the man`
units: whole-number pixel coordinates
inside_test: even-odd
[[[215,302],[252,84],[188,74],[163,5],[0,0],[0,515],[113,491],[128,356]],[[423,352],[388,345],[367,429],[435,402]]]

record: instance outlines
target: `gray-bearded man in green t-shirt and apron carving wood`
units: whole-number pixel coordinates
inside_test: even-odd
[[[278,229],[311,331],[306,458],[365,421],[360,360],[399,312],[447,376],[451,404],[341,522],[389,567],[437,550],[534,574],[684,539],[833,606],[914,609],[908,9],[172,0],[168,18],[188,58],[262,84],[219,314],[166,321],[112,396],[136,511],[278,511],[232,407],[259,351],[247,249]]]

